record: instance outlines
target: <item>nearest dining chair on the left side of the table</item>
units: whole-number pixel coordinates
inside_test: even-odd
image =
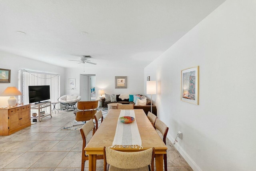
[[[82,139],[83,139],[83,149],[82,149],[82,165],[81,165],[81,171],[84,171],[84,163],[86,160],[89,160],[89,156],[85,154],[85,146],[86,146],[86,136],[88,133],[92,131],[92,135],[95,133],[95,127],[92,119],[87,121],[82,128],[80,129]],[[97,155],[96,159],[103,159],[103,155]]]

